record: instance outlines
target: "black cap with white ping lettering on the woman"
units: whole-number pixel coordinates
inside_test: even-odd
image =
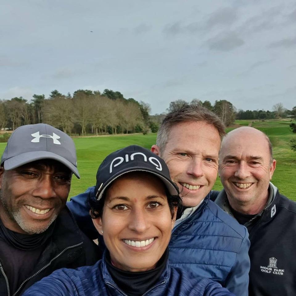
[[[107,186],[123,174],[143,171],[162,180],[171,195],[178,195],[178,186],[171,180],[169,169],[162,158],[141,146],[128,146],[109,154],[97,171],[95,194],[97,200]]]

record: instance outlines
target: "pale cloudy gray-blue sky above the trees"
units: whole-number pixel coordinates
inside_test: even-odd
[[[1,0],[0,99],[120,91],[236,109],[296,105],[296,2]]]

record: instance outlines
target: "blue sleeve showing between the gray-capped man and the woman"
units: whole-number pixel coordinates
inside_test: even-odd
[[[89,187],[83,193],[73,196],[70,201],[67,202],[67,207],[72,212],[78,227],[92,240],[98,238],[98,232],[92,223],[92,219],[89,215],[89,208],[85,202],[88,196],[95,198],[95,187]]]

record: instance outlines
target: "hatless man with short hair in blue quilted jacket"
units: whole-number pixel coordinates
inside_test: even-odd
[[[167,114],[151,150],[167,163],[184,205],[172,231],[170,264],[182,267],[191,277],[210,278],[235,295],[247,296],[247,229],[209,200],[224,134],[224,124],[214,113],[184,105]],[[97,238],[85,206],[88,195],[94,196],[94,187],[73,197],[67,205],[80,228]]]

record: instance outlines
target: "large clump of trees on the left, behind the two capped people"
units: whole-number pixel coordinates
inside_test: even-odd
[[[78,89],[64,95],[55,89],[48,98],[34,94],[31,102],[23,97],[0,101],[0,128],[47,123],[68,134],[127,134],[145,132],[149,113],[149,104],[125,99],[118,91]]]

